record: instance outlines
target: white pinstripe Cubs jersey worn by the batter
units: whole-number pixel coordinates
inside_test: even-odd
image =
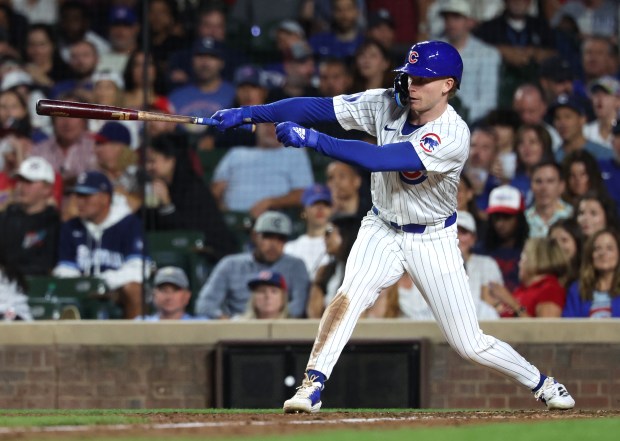
[[[372,173],[372,201],[383,219],[399,225],[437,225],[456,211],[459,176],[469,154],[469,128],[452,106],[407,135],[402,131],[409,108],[399,108],[389,89],[336,96],[334,111],[345,130],[376,136],[380,146],[410,142],[426,168]]]

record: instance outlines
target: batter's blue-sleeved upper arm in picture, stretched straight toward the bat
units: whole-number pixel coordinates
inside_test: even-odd
[[[287,98],[275,103],[250,106],[252,122],[294,121],[312,125],[322,122],[337,122],[332,98]]]

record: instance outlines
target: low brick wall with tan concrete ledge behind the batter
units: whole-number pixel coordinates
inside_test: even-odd
[[[317,326],[315,320],[0,323],[0,407],[212,407],[218,341],[311,341]],[[481,326],[561,379],[578,407],[620,407],[620,320],[522,319]],[[460,359],[433,322],[363,320],[353,335],[417,338],[431,343],[423,407],[537,407],[529,391]]]

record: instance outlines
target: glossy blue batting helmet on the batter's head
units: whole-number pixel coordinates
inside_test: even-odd
[[[394,71],[423,78],[452,77],[459,87],[463,75],[463,60],[449,43],[421,41],[411,46],[405,64]]]

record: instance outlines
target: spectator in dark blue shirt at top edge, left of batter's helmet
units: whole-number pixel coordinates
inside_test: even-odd
[[[361,11],[355,0],[332,0],[331,4],[331,29],[310,37],[310,45],[319,58],[352,59],[356,49],[364,41],[364,33],[358,26]]]

